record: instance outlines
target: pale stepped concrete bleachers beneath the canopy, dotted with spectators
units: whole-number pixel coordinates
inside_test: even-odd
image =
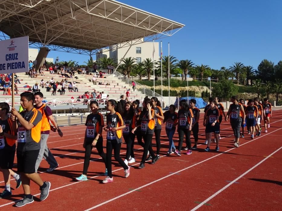
[[[65,79],[65,77],[60,77],[61,75],[59,74],[50,74],[49,71],[44,71],[45,76],[40,76],[38,75],[37,78],[30,78],[28,75],[25,75],[25,73],[18,73],[18,78],[20,79],[21,83],[17,84],[18,87],[18,93],[22,93],[24,91],[28,91],[28,88],[25,88],[24,86],[28,85],[29,87],[33,87],[33,85],[37,82],[38,88],[41,89],[41,92],[44,95],[44,98],[47,99],[47,101],[56,99],[56,101],[66,101],[66,100],[71,100],[73,97],[74,99],[78,98],[79,96],[82,96],[86,91],[89,91],[91,93],[94,89],[96,92],[104,92],[104,94],[109,95],[109,99],[116,99],[119,100],[120,96],[122,94],[126,94],[127,89],[130,89],[130,101],[134,101],[135,99],[142,99],[144,98],[144,94],[142,94],[139,91],[133,91],[131,84],[126,84],[125,82],[121,81],[117,77],[113,75],[107,75],[106,78],[97,78],[97,82],[101,83],[109,83],[110,85],[93,85],[91,79],[92,75],[86,75],[86,74],[75,74],[75,76],[78,77],[78,79],[75,78],[67,78],[68,81],[70,82],[76,82],[77,87],[78,87],[78,92],[70,92],[67,89],[67,85],[65,88],[65,95],[60,95],[60,93],[56,93],[56,96],[51,96],[52,93],[52,88],[50,92],[47,92],[46,88],[42,89],[40,87],[40,81],[43,79],[45,83],[51,79],[51,77],[54,78],[55,82],[60,82],[62,79]],[[57,90],[61,89],[61,85],[58,85]],[[11,98],[10,95],[3,95],[3,93],[0,93],[0,98],[3,99],[9,99]],[[11,100],[9,101],[11,102]],[[15,102],[20,102],[20,96],[15,95]]]

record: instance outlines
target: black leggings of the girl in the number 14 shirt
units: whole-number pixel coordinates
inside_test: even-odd
[[[114,150],[114,156],[115,156],[115,160],[122,165],[122,168],[124,168],[125,170],[128,169],[128,166],[124,163],[124,161],[122,160],[122,158],[120,157],[119,153],[120,153],[120,148],[121,148],[122,143],[116,143],[116,140],[113,140],[111,142],[109,142],[107,140],[107,170],[108,170],[108,176],[112,177],[112,151]]]

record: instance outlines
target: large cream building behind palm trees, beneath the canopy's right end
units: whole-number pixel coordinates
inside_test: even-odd
[[[98,61],[99,58],[103,58],[103,57],[109,58],[110,57],[110,58],[113,58],[115,62],[118,63],[124,57],[128,49],[129,49],[129,46],[123,47],[123,48],[117,48],[116,46],[111,46],[110,50],[105,49],[103,52],[96,54],[96,61]],[[153,52],[154,52],[155,61],[158,61],[160,59],[158,42],[154,43],[154,47],[153,47],[153,42],[140,43],[140,44],[131,46],[131,48],[126,53],[124,58],[128,58],[128,57],[136,58],[137,64],[141,63],[146,58],[151,58],[151,60],[153,61]]]

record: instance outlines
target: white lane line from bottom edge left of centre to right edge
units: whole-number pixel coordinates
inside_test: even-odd
[[[282,120],[282,119],[281,119],[281,120]],[[279,121],[281,121],[281,120],[279,120]],[[280,130],[280,129],[281,129],[281,128],[279,128],[279,129],[277,129],[277,130],[275,130],[275,131],[278,131],[278,130]],[[273,132],[275,132],[275,131],[272,131],[272,132],[270,132],[269,134],[271,134],[271,133],[273,133]],[[245,145],[245,144],[247,144],[247,143],[250,143],[250,142],[252,142],[252,141],[254,141],[254,140],[258,140],[259,138],[262,138],[262,137],[264,137],[264,136],[266,136],[266,135],[267,135],[267,134],[265,134],[265,135],[263,135],[263,136],[260,136],[260,137],[258,137],[258,138],[256,138],[256,139],[250,140],[250,141],[248,141],[248,142],[246,142],[246,143],[240,145],[240,147],[243,146],[243,145]],[[103,203],[97,204],[96,206],[93,206],[93,207],[91,207],[91,208],[89,208],[89,209],[86,209],[85,211],[89,211],[89,210],[95,209],[95,208],[97,208],[97,207],[99,207],[99,206],[102,206],[102,205],[104,205],[104,204],[106,204],[106,203],[112,202],[112,201],[114,201],[114,200],[116,200],[116,199],[118,199],[118,198],[121,198],[121,197],[126,196],[126,195],[128,195],[128,194],[131,194],[131,193],[133,193],[134,191],[137,191],[137,190],[139,190],[139,189],[142,189],[142,188],[144,188],[144,187],[147,187],[147,186],[149,186],[149,185],[151,185],[151,184],[154,184],[154,183],[156,183],[156,182],[158,182],[158,181],[161,181],[161,180],[163,180],[163,179],[165,179],[165,178],[171,177],[172,175],[176,175],[176,174],[178,174],[178,173],[180,173],[180,172],[183,172],[183,171],[185,171],[185,170],[187,170],[187,169],[189,169],[189,168],[192,168],[192,167],[194,167],[194,166],[196,166],[196,165],[199,165],[199,164],[201,164],[201,163],[203,163],[203,162],[206,162],[206,161],[208,161],[208,160],[210,160],[210,159],[213,159],[213,158],[215,158],[215,157],[217,157],[217,156],[220,156],[220,155],[222,155],[222,154],[224,154],[224,153],[226,153],[226,152],[229,152],[229,151],[231,151],[231,150],[234,150],[234,149],[237,149],[237,148],[232,148],[232,149],[226,150],[225,152],[219,153],[219,154],[217,154],[217,155],[215,155],[215,156],[212,156],[212,157],[207,158],[207,159],[205,159],[205,160],[203,160],[203,161],[200,161],[200,162],[195,163],[195,164],[193,164],[193,165],[190,165],[190,166],[188,166],[188,167],[186,167],[186,168],[183,168],[183,169],[181,169],[181,170],[179,170],[179,171],[177,171],[177,172],[174,172],[174,173],[169,174],[169,175],[167,175],[167,176],[164,176],[164,177],[162,177],[162,178],[160,178],[160,179],[157,179],[157,180],[155,180],[155,181],[152,181],[152,182],[150,182],[150,183],[147,183],[147,184],[145,184],[145,185],[142,185],[141,187],[135,188],[134,190],[131,190],[131,191],[128,191],[128,192],[126,192],[126,193],[124,193],[124,194],[121,194],[121,195],[119,195],[119,196],[117,196],[117,197],[115,197],[115,198],[112,198],[112,199],[107,200],[107,201],[105,201],[105,202],[103,202]]]

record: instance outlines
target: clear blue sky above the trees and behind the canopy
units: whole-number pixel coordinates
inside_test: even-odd
[[[257,68],[263,59],[277,64],[282,60],[282,1],[280,0],[201,0],[120,2],[185,24],[163,41],[163,55],[178,60],[189,59],[213,69],[229,67],[234,62]],[[172,3],[173,2],[173,3]],[[75,60],[79,64],[89,56],[52,51],[48,57]]]

